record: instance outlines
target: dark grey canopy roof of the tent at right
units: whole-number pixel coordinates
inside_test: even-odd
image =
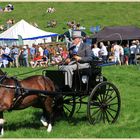
[[[105,27],[96,33],[94,38],[98,42],[140,39],[140,28],[133,26]]]

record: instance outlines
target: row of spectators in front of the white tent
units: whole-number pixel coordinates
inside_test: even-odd
[[[66,59],[68,51],[59,44],[50,47],[48,44],[33,44],[11,48],[6,44],[0,46],[0,67],[29,67],[58,65]]]

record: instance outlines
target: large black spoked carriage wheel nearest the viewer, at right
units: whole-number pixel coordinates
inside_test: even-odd
[[[120,113],[120,93],[115,85],[110,82],[102,82],[92,90],[87,105],[89,122],[95,124],[114,123]]]

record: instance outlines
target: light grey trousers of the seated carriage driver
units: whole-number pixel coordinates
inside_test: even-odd
[[[76,63],[72,64],[72,62],[70,62],[68,65],[60,66],[59,69],[62,70],[62,71],[66,71],[65,85],[69,85],[69,87],[71,88],[72,87],[74,70],[84,69],[84,68],[89,68],[89,67],[90,67],[89,63],[82,63],[82,64],[78,63],[78,65],[77,65]]]

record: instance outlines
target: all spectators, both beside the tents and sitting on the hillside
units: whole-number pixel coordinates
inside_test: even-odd
[[[2,8],[0,8],[1,11]],[[12,4],[8,4],[4,9],[14,10]],[[4,11],[2,9],[2,11]],[[54,13],[56,10],[53,7],[47,9],[47,13]],[[8,19],[5,25],[0,25],[0,31],[4,31],[10,28],[15,23],[14,19]],[[36,22],[32,23],[33,26],[38,28]],[[48,22],[48,27],[55,27],[57,25],[56,20]],[[11,48],[7,45],[0,46],[0,67],[7,67],[9,64],[13,67],[25,66],[48,66],[60,64],[68,55],[68,49],[72,44],[72,31],[73,30],[85,30],[86,28],[81,26],[79,22],[68,21],[68,31],[59,36],[59,42],[64,42],[66,47],[56,45],[55,47],[49,47],[48,44],[33,44],[31,47],[28,45],[17,46],[13,45]],[[84,33],[84,32],[82,32]],[[86,37],[86,34],[82,35]],[[104,63],[115,62],[119,65],[136,64],[136,54],[140,54],[140,42],[139,40],[133,40],[130,44],[112,44],[108,42],[99,42],[91,45],[94,56],[103,60]],[[11,58],[11,59],[10,59]]]

